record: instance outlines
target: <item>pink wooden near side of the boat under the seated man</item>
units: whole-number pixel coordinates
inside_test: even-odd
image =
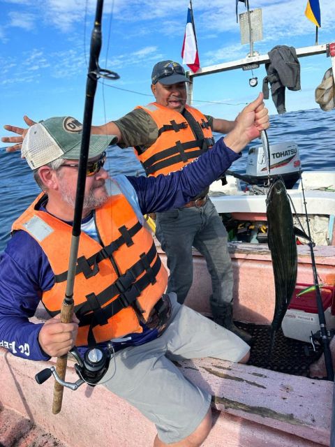
[[[51,362],[22,360],[2,348],[0,357],[1,379],[6,383],[0,389],[2,406],[43,427],[66,446],[153,444],[154,425],[103,386],[65,390],[61,413],[55,416],[53,381],[39,386],[34,380]],[[331,382],[211,358],[184,361],[179,367],[214,396],[214,427],[204,447],[329,446]],[[77,379],[73,367],[68,367],[66,379]],[[8,439],[0,438],[0,443],[11,445]]]

